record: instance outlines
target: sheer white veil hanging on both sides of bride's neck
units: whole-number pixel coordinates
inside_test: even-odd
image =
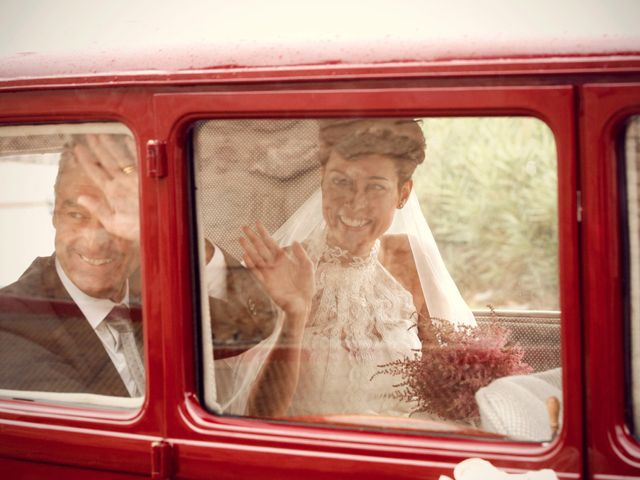
[[[279,245],[302,243],[324,227],[322,192],[317,189],[273,234],[273,238]],[[396,210],[386,233],[407,235],[430,316],[454,324],[475,325],[471,309],[444,264],[415,191],[411,192],[405,206]]]

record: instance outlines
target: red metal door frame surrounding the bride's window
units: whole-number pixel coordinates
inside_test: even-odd
[[[184,478],[437,478],[457,462],[482,456],[509,469],[555,468],[567,478],[582,471],[582,383],[577,168],[574,92],[571,87],[476,87],[185,92],[155,98],[156,134],[167,142],[169,171],[161,182],[162,216],[173,218],[160,232],[161,245],[174,246],[161,257],[174,273],[171,298],[163,298],[167,365],[167,434],[177,446],[177,473]],[[564,425],[551,445],[464,438],[412,436],[322,429],[310,425],[271,424],[215,417],[195,397],[191,358],[181,355],[194,344],[190,238],[185,145],[189,126],[202,118],[272,118],[340,115],[533,115],[556,136],[559,188],[559,261],[561,272],[564,365]]]

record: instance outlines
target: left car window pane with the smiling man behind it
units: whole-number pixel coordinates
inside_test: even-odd
[[[0,127],[2,396],[140,403],[136,162],[121,124]]]

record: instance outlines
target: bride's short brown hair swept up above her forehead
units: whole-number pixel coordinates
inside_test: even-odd
[[[400,185],[411,178],[424,161],[425,138],[418,121],[411,118],[341,118],[319,121],[321,165],[331,151],[346,160],[362,155],[383,155],[396,164]]]

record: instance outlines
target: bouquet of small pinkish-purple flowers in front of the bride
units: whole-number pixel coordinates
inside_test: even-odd
[[[413,413],[475,423],[478,389],[500,377],[531,373],[523,349],[509,341],[511,331],[495,319],[477,327],[430,320],[430,338],[423,339],[421,352],[381,365],[378,372],[402,379],[391,396],[415,402]]]

